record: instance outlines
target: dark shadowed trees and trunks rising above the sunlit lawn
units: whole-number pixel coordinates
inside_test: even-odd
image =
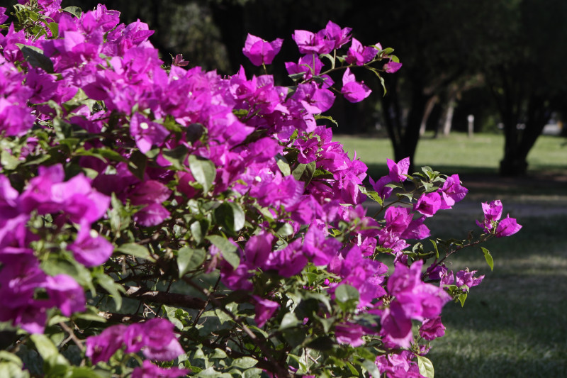
[[[283,38],[269,67],[281,84],[291,84],[283,62],[299,57],[295,29],[317,31],[332,20],[363,44],[394,48],[403,69],[384,75],[386,95],[374,74],[359,70],[373,94],[361,104],[337,96],[330,115],[339,123],[335,134],[389,138],[388,157],[395,160],[419,160],[421,138],[493,133],[502,135],[502,145],[485,153],[499,174],[514,177],[527,173],[544,130],[567,135],[564,0],[64,0],[63,6],[89,10],[99,2],[126,23],[140,18],[157,30],[151,41],[166,64],[181,53],[191,66],[220,74],[240,65],[260,74],[242,55],[247,33]]]

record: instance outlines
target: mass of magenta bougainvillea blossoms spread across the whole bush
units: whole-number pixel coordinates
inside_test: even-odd
[[[13,26],[0,33],[0,133],[25,139],[31,128],[52,133],[45,125],[55,118],[64,120],[77,135],[87,135],[81,153],[65,157],[64,162],[72,161],[74,168],[94,178],[69,174],[76,171],[67,165],[40,165],[18,191],[9,177],[0,175],[0,298],[6,302],[0,308],[0,321],[38,333],[45,328],[49,308],[60,308],[64,316],[84,311],[82,287],[65,274],[46,274],[40,261],[52,252],[72,256],[84,267],[105,263],[114,245],[93,224],[106,216],[111,198],[133,209],[131,227],[136,233],[169,232],[178,220],[194,221],[193,210],[206,218],[195,204],[214,202],[213,212],[234,206],[247,213],[243,224],[232,225],[238,229],[215,225],[211,231],[219,238],[232,236],[224,241],[237,258],[206,241],[209,229],[203,231],[205,241],[198,242],[198,248],[208,248],[208,255],[202,268],[218,269],[225,287],[248,291],[257,326],[266,326],[288,306],[274,292],[264,292],[259,274],[287,279],[306,267],[325,267],[332,282],[327,280],[322,290],[336,299],[339,285],[354,287],[359,294],[356,313],[380,318],[371,326],[340,321],[333,329],[337,342],[357,347],[364,345],[364,336],[381,338],[393,354],[378,357],[378,366],[391,374],[415,373],[410,362],[414,355],[400,348],[412,344],[412,321],[422,322],[420,335],[425,340],[443,334],[439,316],[450,299],[443,285],[455,279],[444,265],[436,265],[427,274],[442,286],[423,282],[422,260],[412,263],[408,258],[408,240],[427,238],[427,218],[451,209],[467,189],[455,174],[434,191],[417,195],[415,203],[384,205],[381,221],[366,215],[361,188],[366,165],[349,158],[342,145],[332,141],[331,130],[319,126],[316,118],[335,100],[330,70],[323,70],[321,55],[352,41],[340,92],[357,102],[369,96],[370,89],[357,81],[351,68],[381,59],[379,44],[365,47],[351,38],[350,28],[332,22],[318,33],[296,30],[293,40],[303,56],[286,63],[286,69],[301,79],[290,91],[277,86],[268,74],[249,77],[242,67],[225,78],[201,67],[186,70],[181,64],[164,70],[164,62],[147,40],[153,31],[140,21],[120,23],[119,13],[103,5],[78,17],[63,12],[59,0],[38,1],[38,5],[57,24],[53,29],[57,35],[46,29],[30,38]],[[0,19],[4,11],[0,9]],[[267,42],[248,35],[243,52],[254,65],[267,65],[281,44],[280,39]],[[21,45],[40,54],[39,65],[24,60]],[[21,72],[16,63],[23,67]],[[399,63],[390,61],[383,70],[399,68]],[[76,96],[99,102],[74,106],[71,100]],[[28,143],[35,142],[30,136]],[[50,143],[60,147],[57,140]],[[99,155],[105,148],[107,156]],[[25,160],[26,155],[18,159]],[[370,179],[383,200],[393,194],[388,184],[408,178],[410,161],[387,164],[386,176],[377,182]],[[65,174],[71,177],[66,179]],[[485,220],[478,225],[487,233],[500,237],[520,230],[513,218],[500,221],[500,201],[483,204],[483,210]],[[36,226],[38,221],[43,226]],[[285,235],[279,235],[274,224],[285,225]],[[37,247],[35,242],[43,235],[33,232],[38,227],[58,238],[57,250]],[[245,228],[246,236],[240,237],[238,232]],[[191,238],[180,245],[189,245]],[[118,239],[113,238],[113,243]],[[179,248],[172,242],[172,249]],[[390,277],[388,266],[374,259],[377,250],[395,255]],[[456,284],[465,289],[480,283],[482,277],[473,277],[475,272],[458,272]],[[122,348],[160,361],[184,352],[172,323],[160,318],[110,326],[86,340],[86,356],[95,364],[107,362]],[[132,377],[160,374],[179,377],[186,370],[162,369],[145,361]]]

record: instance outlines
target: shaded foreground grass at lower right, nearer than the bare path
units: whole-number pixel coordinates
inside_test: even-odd
[[[524,218],[520,233],[486,246],[493,272],[479,250],[455,259],[452,269],[480,268],[485,279],[463,308],[445,306],[446,335],[428,355],[436,377],[567,377],[567,250],[558,226],[566,222]],[[448,218],[432,230],[452,226]]]

